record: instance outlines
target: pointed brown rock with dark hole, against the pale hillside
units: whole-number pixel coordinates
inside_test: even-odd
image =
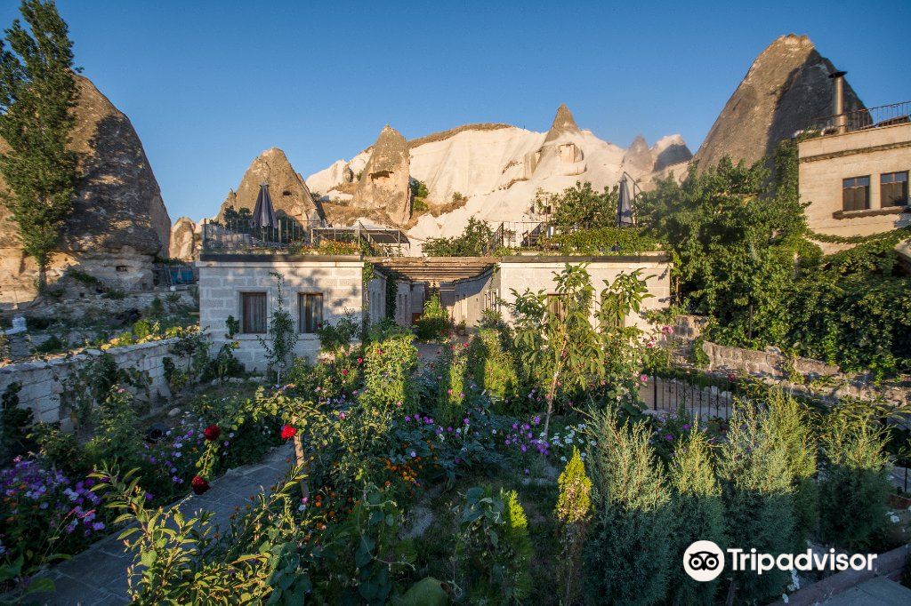
[[[363,168],[352,206],[384,213],[394,225],[404,226],[411,218],[410,170],[408,142],[392,126],[384,126]]]

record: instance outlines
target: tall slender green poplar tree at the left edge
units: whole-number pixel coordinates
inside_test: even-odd
[[[23,0],[0,40],[0,175],[2,201],[18,224],[26,254],[38,266],[38,287],[76,196],[78,158],[67,148],[78,89],[73,42],[52,1]]]

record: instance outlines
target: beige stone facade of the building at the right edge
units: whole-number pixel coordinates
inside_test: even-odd
[[[809,202],[807,223],[834,236],[866,236],[911,224],[905,206],[883,207],[880,175],[911,170],[911,124],[867,128],[801,142],[800,195]],[[866,210],[845,211],[846,178],[869,177]]]

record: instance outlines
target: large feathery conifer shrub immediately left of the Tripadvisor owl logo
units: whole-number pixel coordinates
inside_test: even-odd
[[[592,604],[662,601],[670,562],[670,496],[641,423],[621,425],[613,409],[591,422],[587,461],[594,518],[583,551],[583,587]]]

